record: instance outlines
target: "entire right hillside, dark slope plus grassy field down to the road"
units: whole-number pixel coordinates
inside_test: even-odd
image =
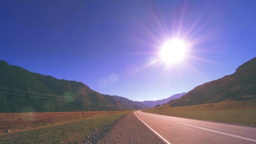
[[[232,75],[199,85],[179,99],[142,112],[256,127],[256,58]]]

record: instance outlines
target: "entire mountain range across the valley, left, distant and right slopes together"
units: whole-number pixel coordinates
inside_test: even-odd
[[[82,103],[81,100],[85,101]],[[218,80],[157,101],[131,101],[91,90],[87,85],[29,72],[0,61],[0,112],[103,111],[171,107],[220,101],[256,101],[256,58]]]

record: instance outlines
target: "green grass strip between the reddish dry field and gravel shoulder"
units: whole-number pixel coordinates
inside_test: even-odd
[[[76,143],[88,139],[95,129],[112,123],[130,111],[88,117],[83,120],[0,136],[1,144]]]

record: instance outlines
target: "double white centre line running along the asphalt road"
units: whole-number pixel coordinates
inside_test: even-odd
[[[140,113],[143,114],[143,115],[147,115],[147,114],[144,114],[142,112],[140,112]],[[148,115],[148,116],[155,117],[155,116],[152,116],[152,115]],[[161,117],[156,117],[156,118],[159,118],[159,119],[162,119],[162,120],[168,120],[168,119],[161,118]],[[256,142],[256,139],[250,139],[250,138],[246,138],[246,137],[243,137],[243,136],[233,135],[233,134],[230,134],[230,133],[224,133],[224,132],[221,132],[221,131],[215,131],[215,130],[211,130],[211,129],[208,129],[208,128],[202,128],[202,127],[195,126],[195,125],[189,125],[187,123],[181,123],[181,122],[178,122],[178,121],[175,121],[175,120],[169,120],[169,121],[173,121],[173,122],[176,122],[176,123],[179,123],[179,124],[182,124],[182,125],[188,125],[188,126],[192,126],[192,127],[195,127],[195,128],[200,128],[200,129],[207,130],[207,131],[212,131],[212,132],[215,132],[215,133],[221,133],[221,134],[224,134],[224,135],[233,136],[233,137],[236,137],[236,138],[240,138],[240,139],[245,139],[245,140],[248,140],[248,141]]]

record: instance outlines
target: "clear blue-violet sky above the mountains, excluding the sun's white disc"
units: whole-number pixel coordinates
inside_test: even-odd
[[[189,47],[167,64],[173,38]],[[188,92],[255,56],[255,0],[0,2],[1,60],[131,100]]]

